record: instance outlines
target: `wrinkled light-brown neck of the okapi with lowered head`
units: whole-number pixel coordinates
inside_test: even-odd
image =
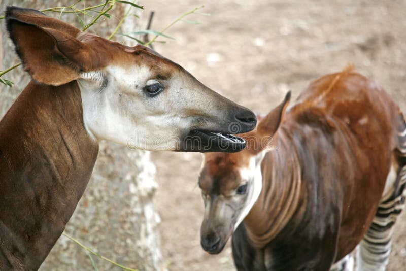
[[[286,133],[278,132],[278,148],[268,152],[261,164],[262,191],[244,220],[247,234],[256,248],[262,248],[280,234],[297,215],[303,194],[300,167]]]

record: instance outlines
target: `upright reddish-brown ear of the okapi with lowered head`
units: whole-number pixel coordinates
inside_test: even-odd
[[[273,136],[282,122],[286,108],[289,105],[291,92],[289,91],[282,103],[268,113],[258,124],[258,132],[263,136]]]

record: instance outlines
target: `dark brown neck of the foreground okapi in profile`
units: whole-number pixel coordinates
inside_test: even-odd
[[[97,158],[77,82],[31,81],[0,121],[0,269],[38,269]]]

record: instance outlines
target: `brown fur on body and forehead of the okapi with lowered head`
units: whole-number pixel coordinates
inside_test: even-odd
[[[233,234],[241,270],[329,269],[368,230],[391,164],[406,164],[399,107],[351,69],[313,81],[284,118],[268,133],[277,147],[262,161],[261,194]],[[273,120],[264,125],[266,119]],[[269,114],[246,137],[261,139],[261,127],[278,123]],[[205,193],[238,187],[240,179],[228,173],[247,167],[256,153],[208,154],[200,177]]]

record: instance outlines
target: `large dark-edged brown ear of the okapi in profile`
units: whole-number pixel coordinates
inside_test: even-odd
[[[6,22],[16,52],[32,79],[58,86],[79,78],[84,65],[81,60],[89,61],[90,51],[75,38],[79,29],[38,11],[15,7],[7,8]]]

